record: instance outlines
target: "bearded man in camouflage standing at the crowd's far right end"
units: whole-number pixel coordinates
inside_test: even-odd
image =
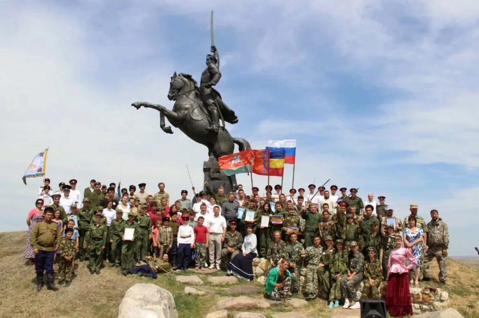
[[[431,222],[427,223],[429,230],[428,249],[424,255],[424,278],[423,281],[431,280],[429,265],[435,258],[439,264],[439,281],[446,282],[447,274],[447,249],[449,248],[449,230],[447,224],[439,218],[437,210],[431,210]]]

